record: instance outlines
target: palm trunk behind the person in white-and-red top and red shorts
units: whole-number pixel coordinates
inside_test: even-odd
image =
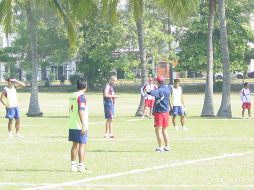
[[[138,45],[139,45],[139,54],[141,62],[141,86],[146,83],[147,78],[147,67],[146,67],[146,52],[144,47],[144,27],[143,27],[143,18],[139,18],[136,21],[137,33],[138,33]],[[144,110],[144,97],[141,95],[138,109],[135,116],[143,115]]]

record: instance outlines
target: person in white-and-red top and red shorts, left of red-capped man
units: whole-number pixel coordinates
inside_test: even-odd
[[[154,90],[156,88],[157,88],[157,86],[153,84],[153,78],[151,76],[149,76],[148,77],[148,83],[145,84],[140,90],[141,95],[144,96],[144,98],[145,98],[145,105],[144,105],[144,111],[143,111],[142,119],[144,119],[144,117],[145,117],[146,108],[149,108],[149,110],[150,110],[149,119],[151,119],[151,115],[152,115],[152,111],[153,111],[153,105],[154,105],[154,101],[155,101],[155,98],[153,96],[146,93],[146,89]]]

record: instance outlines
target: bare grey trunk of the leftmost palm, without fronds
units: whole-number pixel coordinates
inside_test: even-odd
[[[29,110],[27,116],[41,116],[39,100],[38,100],[38,84],[37,84],[37,42],[36,42],[36,26],[35,20],[32,14],[31,0],[27,1],[26,14],[29,31],[29,45],[30,45],[30,57],[32,64],[32,79],[31,79],[31,97],[29,103]]]

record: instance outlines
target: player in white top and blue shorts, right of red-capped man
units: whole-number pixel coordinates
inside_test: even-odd
[[[178,127],[176,126],[176,116],[180,116],[180,122],[182,126],[182,130],[188,131],[189,129],[184,126],[184,100],[183,100],[183,89],[180,86],[180,80],[175,79],[174,85],[172,86],[172,94],[171,94],[171,101],[173,104],[173,118],[172,123],[176,131],[178,131]]]

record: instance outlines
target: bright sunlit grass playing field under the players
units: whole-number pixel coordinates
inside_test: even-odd
[[[21,132],[7,138],[0,111],[0,188],[2,189],[254,189],[253,119],[240,119],[241,103],[232,94],[233,119],[200,118],[204,97],[185,95],[186,126],[169,128],[171,151],[154,152],[153,121],[133,117],[138,94],[120,94],[115,139],[104,139],[102,95],[88,93],[91,174],[69,171],[67,93],[40,93],[44,117],[28,118],[30,94],[19,93]],[[215,95],[215,110],[221,96]]]

